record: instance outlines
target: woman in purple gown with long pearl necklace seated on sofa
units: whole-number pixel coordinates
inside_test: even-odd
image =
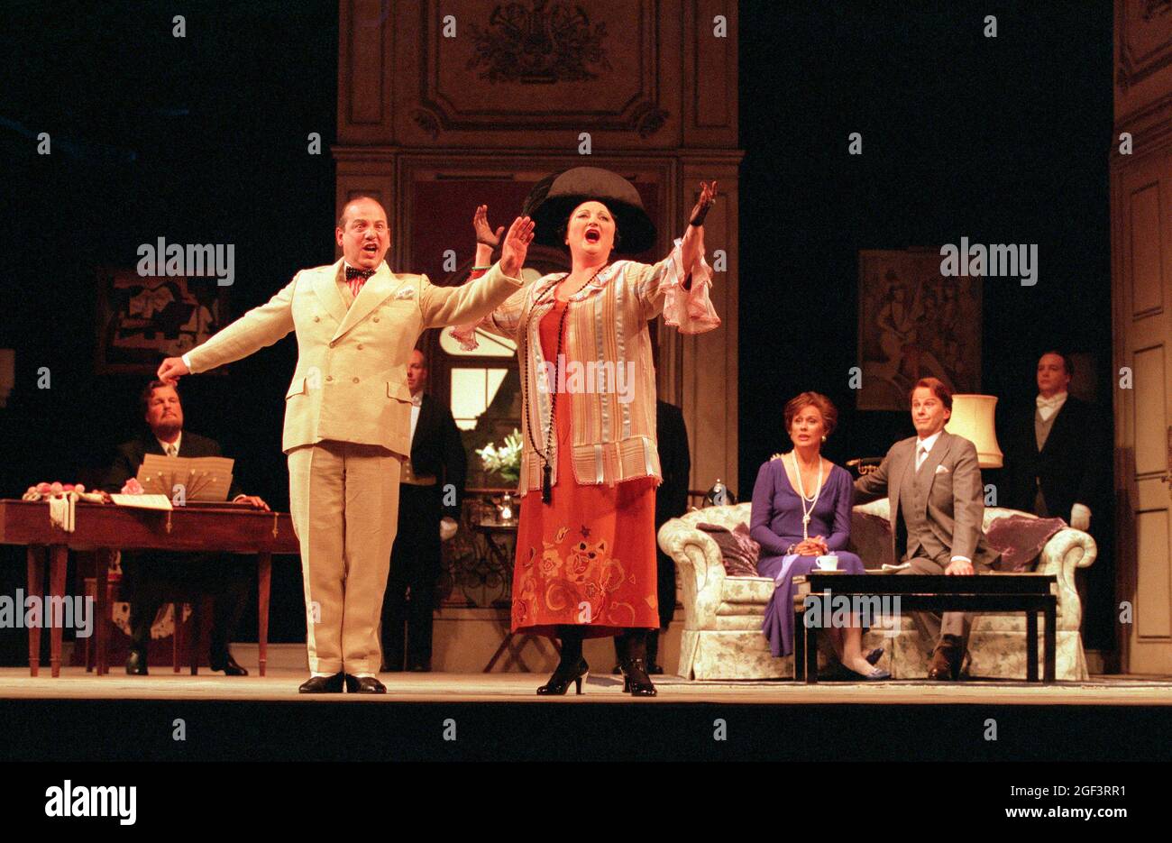
[[[833,433],[838,410],[818,393],[802,393],[785,404],[785,429],[793,450],[777,454],[761,467],[752,488],[750,535],[761,544],[757,571],[777,583],[765,607],[762,631],[774,655],[793,652],[793,578],[818,567],[818,557],[838,557],[838,570],[864,573],[863,562],[846,550],[851,536],[854,483],[850,473],[822,456]],[[830,640],[843,667],[866,679],[888,674],[874,661],[881,650],[864,655],[857,619],[832,627]]]

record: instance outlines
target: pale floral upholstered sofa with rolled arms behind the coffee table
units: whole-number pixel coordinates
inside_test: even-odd
[[[765,604],[774,593],[769,577],[725,576],[721,551],[699,523],[734,529],[748,524],[750,503],[708,507],[663,524],[659,544],[676,564],[683,592],[684,628],[680,641],[679,674],[684,679],[789,679],[793,675],[792,657],[775,659],[761,632]],[[987,507],[984,529],[997,518],[1026,512]],[[886,498],[856,507],[851,517],[851,539],[868,569],[890,562],[888,504]],[[1095,562],[1095,539],[1082,530],[1065,528],[1045,543],[1034,570],[1054,573],[1058,580],[1057,678],[1086,679],[1083,653],[1082,604],[1075,590],[1075,570]],[[870,630],[864,650],[884,647],[880,667],[893,679],[918,679],[927,674],[928,654],[924,652],[915,625],[908,614],[899,618],[898,628]],[[1038,655],[1041,660],[1038,623]],[[825,637],[823,637],[825,639]],[[969,640],[974,678],[1026,678],[1026,617],[1023,613],[979,614]],[[826,654],[819,653],[825,664]],[[1041,667],[1040,667],[1041,669]]]

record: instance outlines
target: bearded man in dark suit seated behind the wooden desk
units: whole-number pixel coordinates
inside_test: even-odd
[[[118,446],[117,456],[102,481],[102,488],[118,492],[128,480],[137,476],[146,454],[164,456],[222,456],[219,443],[206,436],[183,429],[183,404],[179,393],[170,383],[151,381],[139,399],[143,419],[149,430]],[[236,481],[229,491],[233,503],[248,503],[258,509],[268,505],[255,495],[241,495]],[[220,564],[206,553],[169,553],[141,551],[122,553],[122,575],[130,597],[130,655],[127,673],[146,675],[146,645],[150,627],[163,605],[169,589],[190,590],[192,593],[212,594],[214,611],[211,633],[211,668],[229,677],[245,677],[229,651],[245,600],[252,571],[241,564]],[[176,619],[178,627],[179,619]]]

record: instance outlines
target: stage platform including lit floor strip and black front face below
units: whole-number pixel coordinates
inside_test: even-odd
[[[608,665],[609,666],[609,665]],[[545,698],[537,673],[384,673],[382,694],[264,679],[0,669],[0,760],[1172,760],[1172,677],[1086,682],[689,682],[632,699],[609,673]]]

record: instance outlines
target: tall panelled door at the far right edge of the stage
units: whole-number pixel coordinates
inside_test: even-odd
[[[1111,161],[1119,648],[1172,673],[1172,7],[1116,2]]]

